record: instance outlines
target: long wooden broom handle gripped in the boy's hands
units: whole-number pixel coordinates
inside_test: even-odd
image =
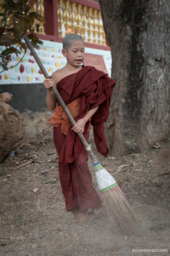
[[[24,35],[23,39],[26,41],[26,44],[28,45],[28,48],[30,49],[32,55],[35,57],[35,60],[36,60],[37,64],[39,65],[39,68],[41,69],[44,77],[46,77],[46,79],[50,78],[48,73],[46,72],[46,69],[44,68],[43,64],[39,60],[39,57],[38,57],[37,53],[35,52],[35,49],[32,47],[32,44],[30,43],[30,40],[28,39],[27,35]],[[56,96],[59,104],[62,106],[62,109],[64,109],[64,112],[68,116],[68,119],[70,120],[71,125],[74,126],[76,124],[76,122],[75,122],[73,116],[71,115],[70,111],[66,107],[66,104],[64,103],[64,100],[59,95],[59,92],[57,91],[55,86],[53,86],[51,88],[52,88],[53,92],[55,93],[55,96]],[[93,154],[93,152],[91,150],[91,147],[86,142],[86,139],[84,138],[83,134],[79,133],[78,136],[79,136],[80,140],[82,141],[84,147],[86,148],[88,154],[91,156],[91,159],[92,159],[93,163],[97,163],[97,159],[95,158],[95,155]]]

